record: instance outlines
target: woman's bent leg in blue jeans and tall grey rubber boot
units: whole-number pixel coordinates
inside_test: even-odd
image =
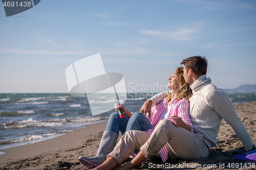
[[[115,148],[119,131],[121,135],[125,133],[128,121],[129,118],[127,116],[120,118],[118,112],[112,113],[101,138],[96,156],[92,158],[80,156],[79,162],[88,168],[93,168],[103,163],[106,160],[106,155]]]

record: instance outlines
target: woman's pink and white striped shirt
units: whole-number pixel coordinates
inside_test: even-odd
[[[161,115],[165,113],[166,109],[168,107],[168,101],[166,101],[166,98],[162,100],[159,104],[153,106],[151,108],[151,118],[148,117],[148,113],[146,114],[146,117],[148,120],[150,120],[151,124],[155,128],[157,124],[161,120]],[[190,132],[193,133],[193,127],[190,121],[189,117],[189,103],[186,99],[181,100],[173,100],[172,105],[170,106],[171,109],[169,112],[166,113],[167,119],[170,120],[172,116],[178,116],[181,117],[181,119],[184,121],[185,124],[187,124],[191,130]],[[145,131],[148,135],[151,136],[154,129],[148,129]],[[165,144],[164,147],[158,151],[159,155],[161,156],[163,162],[165,162],[168,159],[168,145]]]

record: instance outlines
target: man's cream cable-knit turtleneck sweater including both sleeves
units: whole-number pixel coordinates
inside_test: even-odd
[[[245,149],[251,150],[253,143],[228,95],[212,85],[206,75],[199,77],[190,88],[193,90],[189,103],[194,133],[203,134],[203,140],[208,147],[214,147],[217,144],[216,138],[223,118],[236,132]],[[168,93],[168,91],[159,93],[149,100],[153,102],[152,105],[158,104]]]

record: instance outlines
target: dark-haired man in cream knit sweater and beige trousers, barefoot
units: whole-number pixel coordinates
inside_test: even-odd
[[[211,147],[217,144],[222,118],[232,127],[247,151],[254,148],[251,139],[238,117],[234,105],[228,95],[211,84],[206,78],[207,60],[205,57],[194,56],[184,59],[184,79],[193,90],[189,98],[190,119],[194,133],[183,128],[176,128],[170,120],[163,119],[149,137],[143,132],[128,131],[123,135],[115,149],[109,154],[108,159],[101,164],[99,169],[112,169],[120,165],[135,148],[140,148],[139,154],[121,169],[132,169],[141,162],[155,155],[166,143],[169,143],[168,158],[180,157],[184,160],[207,158]],[[150,106],[158,104],[168,92],[162,92],[146,101],[140,112],[149,116]],[[143,144],[144,143],[144,144]]]

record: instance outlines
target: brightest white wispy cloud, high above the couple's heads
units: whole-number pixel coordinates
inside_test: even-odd
[[[195,29],[179,29],[177,31],[155,31],[142,30],[141,34],[152,35],[169,41],[189,41],[193,39],[193,34],[198,32]]]

